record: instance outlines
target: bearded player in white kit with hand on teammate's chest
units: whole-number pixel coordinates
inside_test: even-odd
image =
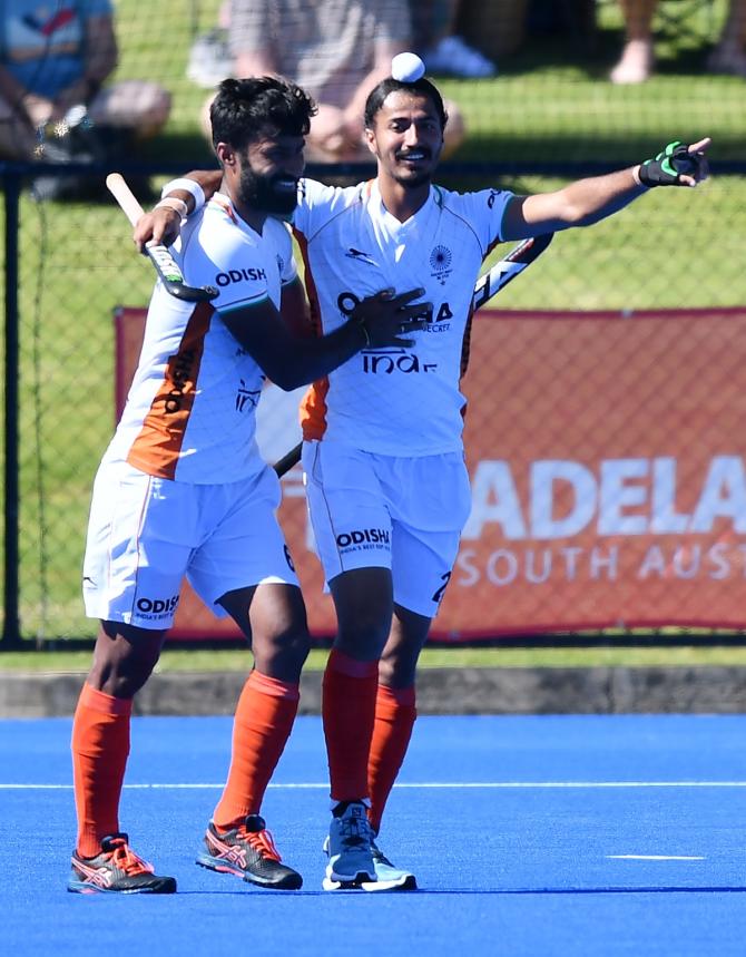
[[[252,644],[254,670],[234,722],[228,780],[197,863],[266,888],[295,889],[259,814],[298,704],[308,651],[303,598],[275,518],[279,481],[262,460],[255,408],[266,377],[295,389],[363,348],[409,348],[421,290],[363,296],[330,335],[288,328],[305,297],[288,228],[314,111],[277,78],[226,80],[213,105],[217,192],[175,247],[187,283],[158,284],[139,365],[94,487],[84,563],[86,612],[100,619],[72,727],[78,840],[68,889],[171,893],[119,827],[132,699],[163,647],[186,576]],[[186,214],[183,203],[164,201]]]

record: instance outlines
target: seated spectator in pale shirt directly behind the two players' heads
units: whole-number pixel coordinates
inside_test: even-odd
[[[224,4],[225,6],[225,4]],[[363,140],[367,92],[389,76],[392,58],[409,49],[409,9],[399,0],[232,0],[222,13],[234,76],[279,74],[318,105],[306,140],[312,162],[370,162]],[[210,97],[212,101],[212,97]],[[463,118],[448,104],[452,152]],[[205,133],[209,101],[203,114]]]

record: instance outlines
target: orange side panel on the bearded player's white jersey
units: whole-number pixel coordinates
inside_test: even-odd
[[[184,433],[197,394],[205,335],[214,313],[207,302],[196,305],[178,352],[169,358],[164,381],[129,450],[129,465],[147,475],[168,479],[176,477]]]

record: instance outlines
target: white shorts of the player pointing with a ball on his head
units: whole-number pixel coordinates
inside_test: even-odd
[[[379,456],[313,441],[303,443],[303,468],[326,580],[390,568],[394,602],[432,618],[471,508],[463,453]]]

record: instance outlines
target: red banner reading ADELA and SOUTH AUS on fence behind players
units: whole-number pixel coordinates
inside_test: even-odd
[[[122,384],[143,316],[118,312]],[[746,627],[746,307],[485,311],[463,389],[472,511],[435,639]],[[266,428],[282,451],[294,406]],[[300,469],[283,484],[310,624],[331,634]],[[237,634],[187,589],[174,637]]]

